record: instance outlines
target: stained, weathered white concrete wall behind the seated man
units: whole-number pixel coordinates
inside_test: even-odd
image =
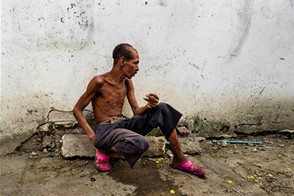
[[[1,38],[5,141],[71,110],[121,42],[140,53],[141,104],[153,91],[185,116],[293,128],[293,0],[6,0]]]

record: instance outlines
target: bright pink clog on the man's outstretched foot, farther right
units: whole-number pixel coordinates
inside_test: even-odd
[[[170,167],[174,168],[174,169],[181,170],[183,172],[187,172],[189,174],[193,174],[193,175],[200,177],[200,178],[203,178],[204,173],[205,173],[204,168],[199,167],[197,165],[193,165],[193,163],[189,160],[184,161],[182,163],[175,163],[174,162],[174,163],[170,164]]]

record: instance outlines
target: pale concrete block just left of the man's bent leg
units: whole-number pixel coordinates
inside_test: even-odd
[[[61,153],[66,158],[95,156],[95,148],[87,135],[65,134],[62,141]]]

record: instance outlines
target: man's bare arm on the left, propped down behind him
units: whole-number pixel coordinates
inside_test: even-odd
[[[87,105],[94,99],[97,91],[101,88],[103,85],[103,78],[101,76],[95,76],[90,83],[88,84],[86,92],[80,97],[76,105],[73,109],[73,115],[77,119],[79,125],[84,130],[84,132],[88,135],[90,140],[93,142],[93,139],[95,137],[95,133],[88,124],[84,114],[83,110]]]

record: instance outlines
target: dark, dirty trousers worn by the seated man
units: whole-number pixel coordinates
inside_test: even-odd
[[[181,116],[182,114],[172,106],[159,103],[157,107],[147,110],[142,115],[135,115],[112,124],[97,125],[94,146],[102,150],[116,147],[133,167],[149,147],[144,136],[159,127],[163,135],[169,138]]]

